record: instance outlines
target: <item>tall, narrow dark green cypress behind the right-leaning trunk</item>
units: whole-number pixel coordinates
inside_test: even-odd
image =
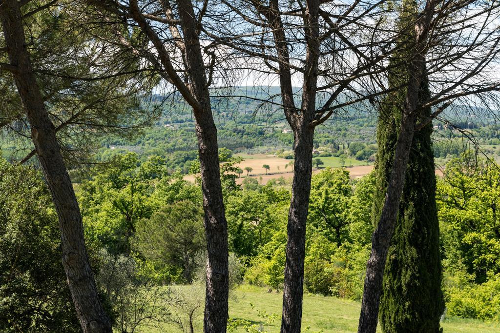
[[[392,56],[389,86],[399,87],[411,73],[406,70],[407,49],[414,39],[412,21],[417,13],[414,0],[403,0],[399,18],[399,50]],[[373,221],[377,223],[383,206],[394,148],[399,132],[405,89],[387,95],[379,109],[377,126],[376,187]],[[419,99],[429,97],[427,77],[420,86]],[[430,115],[419,111],[417,121]],[[435,203],[436,180],[431,143],[432,124],[415,132],[399,205],[399,216],[387,254],[380,298],[379,319],[385,333],[439,332],[444,308],[441,292],[439,225]]]

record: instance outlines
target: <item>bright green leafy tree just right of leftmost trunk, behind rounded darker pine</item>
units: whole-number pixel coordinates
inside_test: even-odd
[[[158,179],[149,177],[166,173],[160,171],[160,163],[161,159],[151,158],[141,165],[134,153],[118,155],[102,172],[81,184],[78,197],[92,242],[113,255],[129,252],[135,224],[157,209],[151,194]]]

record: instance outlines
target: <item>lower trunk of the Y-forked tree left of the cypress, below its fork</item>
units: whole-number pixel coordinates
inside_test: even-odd
[[[281,333],[299,333],[302,321],[305,226],[309,207],[314,128],[308,123],[294,133],[293,183],[288,211]]]

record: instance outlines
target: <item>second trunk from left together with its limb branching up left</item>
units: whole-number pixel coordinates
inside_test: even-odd
[[[182,97],[193,108],[195,131],[198,139],[198,155],[201,167],[201,190],[203,193],[204,227],[208,260],[206,264],[206,289],[203,331],[224,333],[227,325],[228,247],[227,221],[225,219],[220,169],[218,160],[217,129],[210,107],[209,82],[205,74],[201,45],[198,37],[199,24],[191,0],[177,0],[182,34],[177,26],[170,25],[183,49],[185,71],[188,82],[178,76],[169,59],[165,44],[140,12],[136,0],[130,1],[130,11],[142,31],[153,43],[158,60],[156,70],[179,90]],[[159,0],[163,10],[171,14],[168,1]],[[169,14],[167,14],[169,16]],[[182,38],[182,39],[180,39]],[[161,66],[163,68],[161,68]],[[187,84],[188,83],[188,84]]]

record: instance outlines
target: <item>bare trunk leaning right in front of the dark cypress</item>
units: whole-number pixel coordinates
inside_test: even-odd
[[[371,253],[366,265],[363,300],[359,317],[358,333],[375,333],[378,306],[382,289],[382,278],[394,226],[399,211],[399,202],[404,185],[411,144],[415,131],[419,91],[425,70],[425,49],[430,21],[434,13],[435,0],[427,0],[425,8],[417,15],[414,23],[414,37],[407,44],[406,93],[401,109],[401,124],[394,148],[394,161],[387,182],[387,192],[378,224],[371,236]]]

